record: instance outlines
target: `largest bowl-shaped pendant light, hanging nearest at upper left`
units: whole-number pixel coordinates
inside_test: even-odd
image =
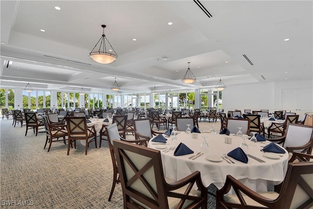
[[[89,57],[93,59],[94,61],[96,61],[97,63],[109,64],[109,63],[114,62],[117,59],[117,54],[115,50],[113,49],[113,47],[111,46],[110,42],[108,41],[106,35],[104,35],[104,28],[106,27],[106,25],[103,24],[101,25],[101,27],[103,27],[103,33],[98,43],[96,44],[97,46],[99,42],[101,41],[99,49],[98,50],[95,49],[96,46],[94,46],[91,52],[89,53]],[[111,48],[109,49],[110,52],[107,51],[106,42],[108,42],[108,44],[111,46]],[[115,54],[113,53],[113,51]]]

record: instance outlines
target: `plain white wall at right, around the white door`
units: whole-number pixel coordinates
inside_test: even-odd
[[[282,91],[286,89],[313,89],[313,80],[229,85],[222,93],[224,113],[235,109],[281,110]]]

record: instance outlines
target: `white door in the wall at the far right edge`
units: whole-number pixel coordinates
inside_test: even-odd
[[[299,120],[305,113],[313,112],[313,95],[311,89],[283,90],[283,110],[296,113]]]

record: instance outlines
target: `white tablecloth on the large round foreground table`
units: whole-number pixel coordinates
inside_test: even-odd
[[[198,135],[198,139],[191,139],[191,134],[185,134],[180,132],[178,135],[178,141],[186,144],[195,153],[201,152],[200,145],[203,141],[201,136],[208,136],[207,142],[209,144],[209,153],[204,154],[196,160],[189,160],[190,155],[174,156],[174,150],[170,152],[162,152],[161,158],[163,164],[164,175],[166,178],[177,181],[186,177],[187,175],[199,170],[201,172],[201,179],[204,186],[209,186],[214,183],[218,188],[221,188],[226,180],[226,175],[230,174],[246,186],[254,191],[267,191],[269,186],[277,185],[284,180],[287,166],[288,166],[288,154],[284,154],[284,157],[280,159],[268,159],[263,157],[261,142],[251,142],[246,139],[249,146],[248,152],[258,157],[266,163],[259,163],[251,158],[248,158],[248,163],[242,163],[232,159],[235,164],[228,164],[224,160],[222,162],[211,162],[205,159],[206,155],[221,155],[228,153],[229,151],[240,146],[243,141],[240,137],[232,137],[232,144],[224,143],[226,135],[202,133]],[[168,143],[171,142],[171,138],[167,138]],[[149,141],[148,147],[156,149],[157,145]],[[170,144],[167,146],[171,146]]]

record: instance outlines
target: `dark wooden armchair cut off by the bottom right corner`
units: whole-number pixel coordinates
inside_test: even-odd
[[[227,194],[230,189],[235,194]],[[283,183],[274,191],[255,192],[227,175],[216,193],[218,209],[310,209],[313,207],[313,162],[290,163]]]

